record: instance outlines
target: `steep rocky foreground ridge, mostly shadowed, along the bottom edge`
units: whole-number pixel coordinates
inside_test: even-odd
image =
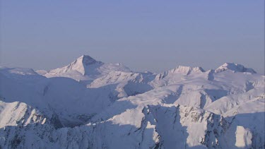
[[[139,127],[112,121],[61,129],[6,126],[0,143],[2,148],[264,148],[264,130],[239,121],[251,114],[224,118],[193,107],[158,105],[144,107],[142,116]]]

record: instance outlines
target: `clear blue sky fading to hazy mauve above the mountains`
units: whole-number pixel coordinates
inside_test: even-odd
[[[88,54],[135,71],[235,62],[264,73],[264,0],[1,0],[0,31],[1,66]]]

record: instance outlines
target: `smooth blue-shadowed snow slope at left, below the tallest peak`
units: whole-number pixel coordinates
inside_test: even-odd
[[[57,117],[59,126],[83,124],[112,103],[108,90],[88,89],[71,78],[45,78],[30,72],[23,68],[0,69],[3,102],[23,102],[48,119]]]

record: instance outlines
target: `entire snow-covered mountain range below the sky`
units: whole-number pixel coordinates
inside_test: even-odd
[[[0,67],[0,148],[265,148],[264,79],[240,64],[156,74],[90,56]]]

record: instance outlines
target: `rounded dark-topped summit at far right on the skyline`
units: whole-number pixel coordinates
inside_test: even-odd
[[[235,72],[248,72],[248,73],[257,73],[252,68],[246,68],[245,66],[241,64],[235,64],[235,63],[225,63],[222,66],[216,68],[216,73],[220,73],[223,71],[235,71]]]

